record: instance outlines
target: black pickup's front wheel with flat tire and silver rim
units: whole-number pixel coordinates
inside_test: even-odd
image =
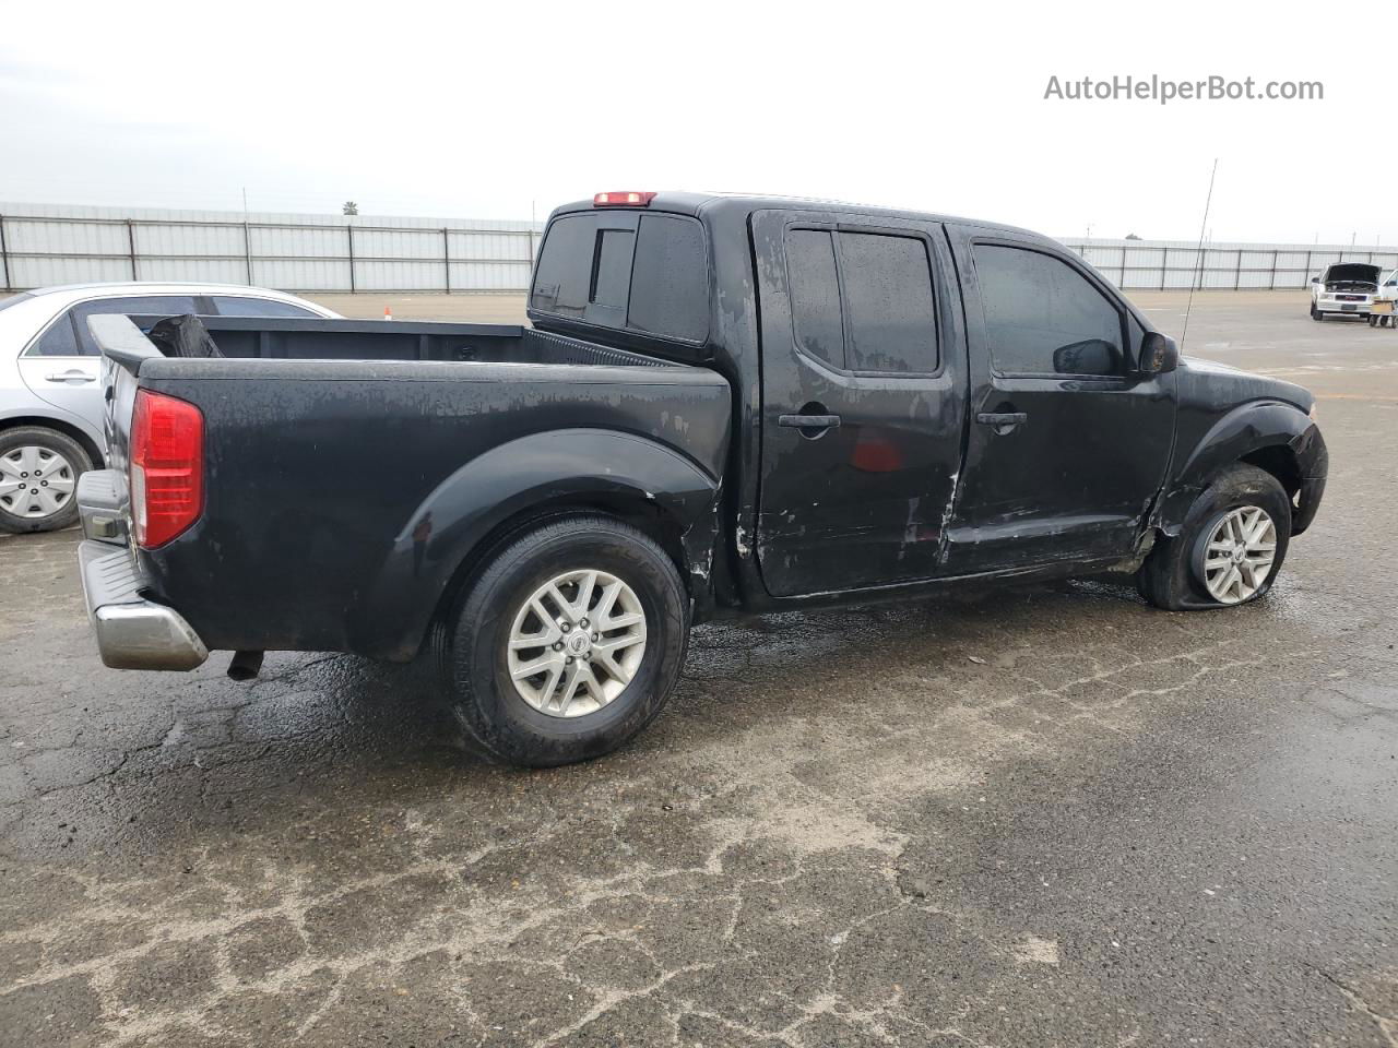
[[[1155,544],[1137,572],[1137,590],[1167,611],[1255,601],[1282,570],[1290,534],[1292,502],[1276,478],[1230,465],[1194,500],[1180,534]]]

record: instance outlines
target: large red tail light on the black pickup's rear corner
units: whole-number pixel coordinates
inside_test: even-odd
[[[204,415],[193,404],[136,391],[131,516],[136,544],[164,546],[204,511]]]

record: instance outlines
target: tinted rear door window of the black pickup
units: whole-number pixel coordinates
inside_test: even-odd
[[[786,236],[797,345],[865,374],[937,370],[927,245],[916,236],[791,229]]]

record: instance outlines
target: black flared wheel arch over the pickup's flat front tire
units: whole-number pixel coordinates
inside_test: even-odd
[[[1166,483],[1158,516],[1159,528],[1166,535],[1177,535],[1194,499],[1219,470],[1272,447],[1286,449],[1292,456],[1296,476],[1302,482],[1300,509],[1304,524],[1309,524],[1329,465],[1325,440],[1320,428],[1295,404],[1264,400],[1233,408],[1188,450],[1183,465],[1172,471],[1172,479]],[[1304,524],[1296,528],[1296,534],[1304,530]]]

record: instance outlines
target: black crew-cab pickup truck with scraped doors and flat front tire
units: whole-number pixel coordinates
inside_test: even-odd
[[[1102,572],[1243,604],[1325,486],[1306,390],[1180,359],[1001,225],[598,194],[551,215],[528,317],[214,319],[210,359],[92,317],[106,664],[431,648],[481,748],[558,764],[660,711],[693,622]]]

